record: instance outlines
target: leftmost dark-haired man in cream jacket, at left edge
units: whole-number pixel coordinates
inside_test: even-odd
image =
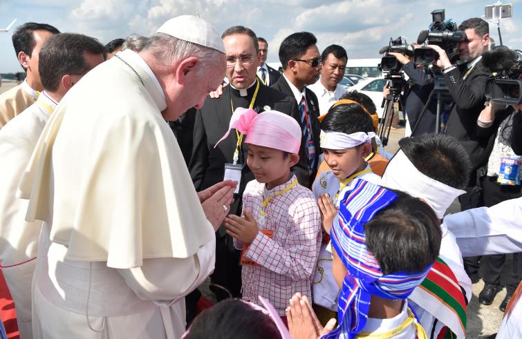
[[[59,31],[47,23],[28,22],[19,26],[12,35],[18,61],[27,77],[18,86],[0,95],[0,128],[10,119],[34,104],[42,89],[38,73],[38,53],[41,45]]]

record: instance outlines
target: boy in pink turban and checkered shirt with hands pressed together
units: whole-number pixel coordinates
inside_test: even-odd
[[[243,299],[270,300],[286,321],[294,293],[311,298],[310,278],[321,244],[321,214],[313,193],[290,167],[299,161],[301,128],[289,115],[236,108],[230,128],[246,135],[247,164],[256,180],[243,193],[243,217],[225,218],[234,246],[243,249]],[[221,141],[221,140],[220,140]]]

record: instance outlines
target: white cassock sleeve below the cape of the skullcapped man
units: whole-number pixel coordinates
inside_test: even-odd
[[[167,307],[196,289],[214,271],[216,241],[207,242],[190,258],[144,259],[141,267],[118,269],[142,300]]]

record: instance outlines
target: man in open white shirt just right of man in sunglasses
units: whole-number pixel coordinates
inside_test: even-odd
[[[319,100],[319,113],[323,115],[328,112],[335,102],[346,93],[346,88],[339,84],[344,77],[348,55],[346,50],[339,45],[330,45],[321,54],[323,68],[321,79],[313,85],[308,86]]]

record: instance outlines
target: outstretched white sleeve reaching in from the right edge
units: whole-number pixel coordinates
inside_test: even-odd
[[[444,218],[463,257],[522,251],[522,197]]]

